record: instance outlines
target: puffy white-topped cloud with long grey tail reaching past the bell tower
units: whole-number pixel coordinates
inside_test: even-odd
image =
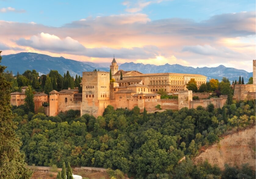
[[[71,37],[60,39],[58,36],[48,33],[40,33],[37,36],[31,36],[30,39],[20,38],[16,41],[20,46],[29,46],[37,50],[50,51],[54,53],[70,53],[76,55],[85,55],[87,57],[106,58],[116,54],[120,58],[153,58],[159,51],[155,46],[144,46],[143,48],[120,48],[113,49],[108,47],[85,48],[77,40]]]

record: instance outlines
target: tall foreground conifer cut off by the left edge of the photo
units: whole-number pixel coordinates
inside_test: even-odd
[[[0,65],[0,179],[27,179],[33,172],[25,167],[24,155],[20,153],[21,142],[15,133],[10,105],[11,84],[3,76],[5,68]]]

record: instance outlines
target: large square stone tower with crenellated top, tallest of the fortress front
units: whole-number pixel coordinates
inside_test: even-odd
[[[100,102],[110,99],[110,74],[105,71],[83,72],[81,116],[102,115]]]

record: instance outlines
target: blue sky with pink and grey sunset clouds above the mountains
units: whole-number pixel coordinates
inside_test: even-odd
[[[251,72],[255,11],[255,0],[0,0],[0,50]]]

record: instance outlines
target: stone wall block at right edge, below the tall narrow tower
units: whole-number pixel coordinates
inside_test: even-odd
[[[236,84],[234,90],[234,99],[237,101],[247,100],[247,95],[251,95],[251,93],[255,92],[255,84]],[[251,96],[248,96],[248,98],[251,98]]]

